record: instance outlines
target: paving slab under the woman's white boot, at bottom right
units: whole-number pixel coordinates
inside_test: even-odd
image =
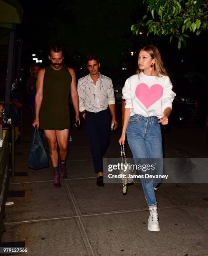
[[[160,232],[147,230],[148,211],[84,217],[96,253],[106,255],[208,255],[208,233],[178,208],[160,209]]]

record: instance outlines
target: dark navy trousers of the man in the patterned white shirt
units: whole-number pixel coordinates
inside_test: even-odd
[[[85,121],[95,173],[103,172],[102,156],[109,144],[111,115],[108,110],[98,113],[86,111]]]

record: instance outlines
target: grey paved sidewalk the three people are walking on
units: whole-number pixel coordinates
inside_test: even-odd
[[[25,196],[8,197],[14,205],[5,209],[2,242],[25,241],[28,255],[35,256],[208,255],[208,184],[162,184],[156,192],[160,232],[150,232],[140,185],[130,186],[125,196],[121,184],[96,186],[84,125],[74,128],[68,179],[61,181],[60,189],[53,187],[51,165],[27,168],[33,128],[25,124],[23,132],[23,144],[16,146],[15,172],[28,176],[15,176],[9,191],[25,191]],[[119,136],[120,131],[111,133],[105,157],[120,157]],[[184,155],[165,145],[165,157]]]

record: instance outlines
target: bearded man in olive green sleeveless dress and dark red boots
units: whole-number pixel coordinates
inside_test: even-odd
[[[51,64],[41,69],[36,83],[35,110],[33,126],[40,126],[48,139],[52,154],[51,161],[54,170],[53,184],[61,187],[61,179],[67,178],[66,155],[68,151],[68,133],[70,128],[69,95],[71,93],[76,122],[79,120],[79,96],[76,89],[74,69],[62,64],[63,51],[61,47],[50,48],[48,55]],[[60,171],[58,170],[58,151],[60,155]]]

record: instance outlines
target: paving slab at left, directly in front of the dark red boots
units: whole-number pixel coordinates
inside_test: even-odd
[[[5,223],[74,215],[64,186],[53,182],[10,185],[9,191],[25,191],[25,197],[8,197],[14,205],[5,208]]]

